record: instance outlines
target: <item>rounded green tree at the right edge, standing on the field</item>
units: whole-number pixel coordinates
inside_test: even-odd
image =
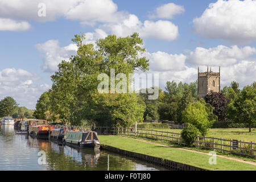
[[[256,123],[256,89],[252,86],[245,86],[241,94],[230,103],[229,117],[237,123],[247,123],[249,132],[251,126]]]

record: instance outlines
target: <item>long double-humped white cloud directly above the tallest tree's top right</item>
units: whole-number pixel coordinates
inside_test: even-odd
[[[111,34],[128,36],[133,32],[139,32],[142,38],[156,38],[172,41],[179,36],[178,27],[170,21],[158,20],[152,22],[145,20],[143,23],[136,15],[130,14],[119,23],[108,23],[103,26]]]

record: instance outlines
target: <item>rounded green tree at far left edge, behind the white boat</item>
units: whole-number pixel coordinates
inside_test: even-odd
[[[13,97],[5,97],[0,101],[0,117],[13,115],[18,110],[18,104]]]

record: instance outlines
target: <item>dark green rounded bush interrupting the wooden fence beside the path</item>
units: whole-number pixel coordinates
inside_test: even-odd
[[[187,126],[185,126],[181,131],[181,138],[185,144],[187,144],[189,147],[192,147],[196,140],[196,136],[200,134],[201,133],[199,129],[196,128],[196,126],[188,123]]]

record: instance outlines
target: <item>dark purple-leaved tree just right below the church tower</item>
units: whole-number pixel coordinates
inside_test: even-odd
[[[204,100],[214,108],[213,114],[217,115],[219,120],[226,120],[224,110],[228,104],[228,98],[226,98],[223,93],[210,91],[210,93],[204,97]]]

